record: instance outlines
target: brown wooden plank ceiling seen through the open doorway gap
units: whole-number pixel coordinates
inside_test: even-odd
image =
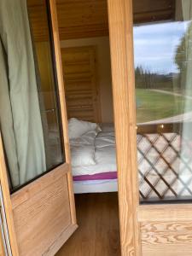
[[[108,35],[106,0],[57,1],[61,40]]]

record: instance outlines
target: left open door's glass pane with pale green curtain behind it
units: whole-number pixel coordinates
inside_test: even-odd
[[[13,192],[65,154],[47,1],[3,0],[0,19],[0,121]]]

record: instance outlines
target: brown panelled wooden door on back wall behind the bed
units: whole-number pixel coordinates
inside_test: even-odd
[[[68,118],[99,122],[96,48],[94,46],[62,48],[61,58]]]

